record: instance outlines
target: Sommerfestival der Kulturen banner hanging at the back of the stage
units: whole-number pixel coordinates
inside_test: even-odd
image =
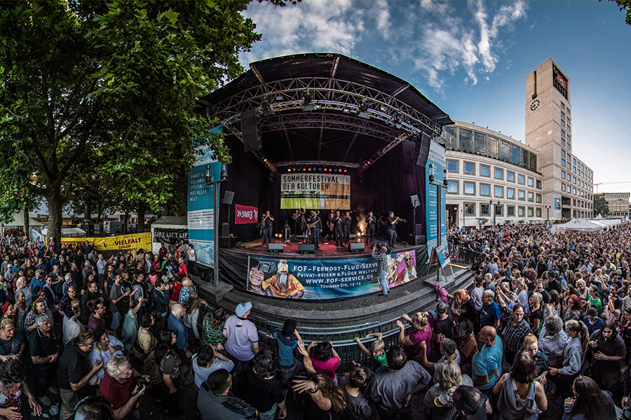
[[[281,174],[281,209],[351,209],[351,176]]]

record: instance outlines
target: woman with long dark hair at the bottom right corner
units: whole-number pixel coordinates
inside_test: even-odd
[[[565,400],[562,420],[616,420],[611,394],[603,392],[594,379],[580,376],[572,384],[574,398]]]

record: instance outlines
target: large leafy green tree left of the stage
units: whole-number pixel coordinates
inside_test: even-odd
[[[105,157],[90,172],[153,209],[189,171],[196,143],[229,162],[196,98],[243,71],[238,52],[260,38],[240,14],[249,2],[1,2],[1,216],[45,197],[59,244],[62,206],[86,178],[90,150]]]

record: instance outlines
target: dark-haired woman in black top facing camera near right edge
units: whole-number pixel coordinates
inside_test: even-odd
[[[590,350],[593,358],[589,376],[601,389],[615,391],[622,379],[627,349],[613,321],[604,321],[600,329],[590,335]]]

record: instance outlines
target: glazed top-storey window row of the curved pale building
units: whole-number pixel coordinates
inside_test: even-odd
[[[537,170],[537,155],[526,149],[510,144],[510,142],[484,133],[474,132],[461,127],[447,126],[445,131],[451,134],[452,146],[463,151],[483,153],[511,162],[524,165],[532,171]]]

